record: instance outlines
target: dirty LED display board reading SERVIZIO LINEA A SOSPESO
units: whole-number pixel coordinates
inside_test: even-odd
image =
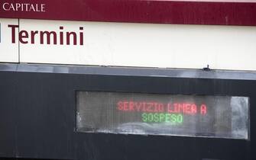
[[[79,132],[249,139],[246,97],[76,93]]]

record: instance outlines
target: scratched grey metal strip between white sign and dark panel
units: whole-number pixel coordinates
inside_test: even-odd
[[[220,78],[256,80],[254,71],[209,70],[203,69],[160,69],[134,68],[112,66],[71,66],[71,65],[44,65],[44,64],[15,64],[0,63],[1,71],[8,72],[45,72],[89,75],[130,75],[151,77],[177,78]]]

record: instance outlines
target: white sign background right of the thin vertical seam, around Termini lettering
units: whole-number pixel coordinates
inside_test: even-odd
[[[60,26],[84,27],[85,45],[20,43],[21,62],[256,70],[256,27],[20,20],[20,30]]]

